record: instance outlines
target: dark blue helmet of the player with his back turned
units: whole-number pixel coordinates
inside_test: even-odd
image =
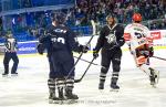
[[[66,15],[62,12],[53,14],[52,21],[56,21],[59,24],[63,24],[66,21]]]

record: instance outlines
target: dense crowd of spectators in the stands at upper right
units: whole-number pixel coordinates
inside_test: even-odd
[[[76,25],[87,25],[91,19],[102,24],[108,13],[114,13],[120,23],[126,24],[132,22],[134,12],[139,12],[143,21],[151,20],[146,23],[151,29],[166,28],[166,20],[156,21],[166,19],[166,4],[162,0],[77,0],[71,12]]]

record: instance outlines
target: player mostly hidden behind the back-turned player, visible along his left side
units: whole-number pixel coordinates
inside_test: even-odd
[[[51,25],[48,25],[46,29],[49,29]],[[43,29],[44,30],[44,29]],[[38,30],[37,30],[38,31]],[[38,50],[38,53],[43,55],[44,51],[46,50],[46,53],[48,53],[48,61],[49,61],[49,68],[50,68],[50,72],[49,72],[49,79],[48,79],[48,87],[49,87],[49,103],[50,104],[58,104],[59,103],[59,98],[56,97],[55,95],[55,75],[54,75],[54,69],[53,69],[53,62],[51,60],[51,49],[50,49],[50,45],[51,45],[51,42],[49,39],[46,39],[48,35],[45,35],[45,31],[44,30],[42,33],[41,32],[38,32],[35,33],[34,35],[37,38],[39,38],[39,44],[37,46],[37,50]]]

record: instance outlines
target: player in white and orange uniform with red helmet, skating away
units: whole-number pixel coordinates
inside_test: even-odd
[[[124,38],[129,46],[129,51],[134,56],[137,67],[149,74],[151,85],[156,84],[158,71],[149,67],[148,58],[153,56],[154,50],[152,46],[153,39],[149,30],[142,25],[142,15],[134,13],[133,23],[128,24],[124,31]]]

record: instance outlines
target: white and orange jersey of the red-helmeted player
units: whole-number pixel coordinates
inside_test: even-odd
[[[148,28],[139,23],[126,25],[124,30],[124,39],[133,51],[143,46],[144,44],[149,44],[149,40],[153,40],[151,39],[151,32]]]

